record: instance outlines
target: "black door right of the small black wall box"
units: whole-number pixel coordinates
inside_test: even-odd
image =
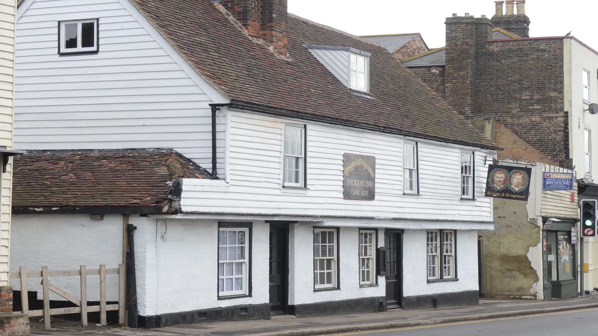
[[[384,234],[386,247],[386,305],[388,308],[401,307],[402,257],[401,234]]]

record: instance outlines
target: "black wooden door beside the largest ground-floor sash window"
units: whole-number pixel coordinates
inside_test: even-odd
[[[286,314],[288,227],[270,224],[270,314]]]

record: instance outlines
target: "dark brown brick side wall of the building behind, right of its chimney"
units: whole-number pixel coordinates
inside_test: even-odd
[[[475,114],[494,115],[557,165],[570,167],[563,39],[488,42],[480,55]]]

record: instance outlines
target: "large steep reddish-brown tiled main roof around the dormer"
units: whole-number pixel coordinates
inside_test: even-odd
[[[495,148],[378,44],[289,14],[283,60],[243,35],[211,0],[130,0],[231,102],[419,138]],[[370,93],[355,94],[303,45],[371,53]],[[355,126],[355,127],[358,127]]]

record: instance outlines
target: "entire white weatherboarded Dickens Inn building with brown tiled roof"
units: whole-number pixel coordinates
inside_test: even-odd
[[[216,2],[23,2],[18,148],[173,148],[212,178],[171,175],[160,209],[22,203],[15,225],[125,214],[133,241],[102,253],[134,245],[141,326],[477,303],[496,145],[380,45],[284,0]],[[113,229],[104,239],[127,242]],[[44,234],[94,246],[91,230]],[[74,252],[73,268],[97,263]]]

